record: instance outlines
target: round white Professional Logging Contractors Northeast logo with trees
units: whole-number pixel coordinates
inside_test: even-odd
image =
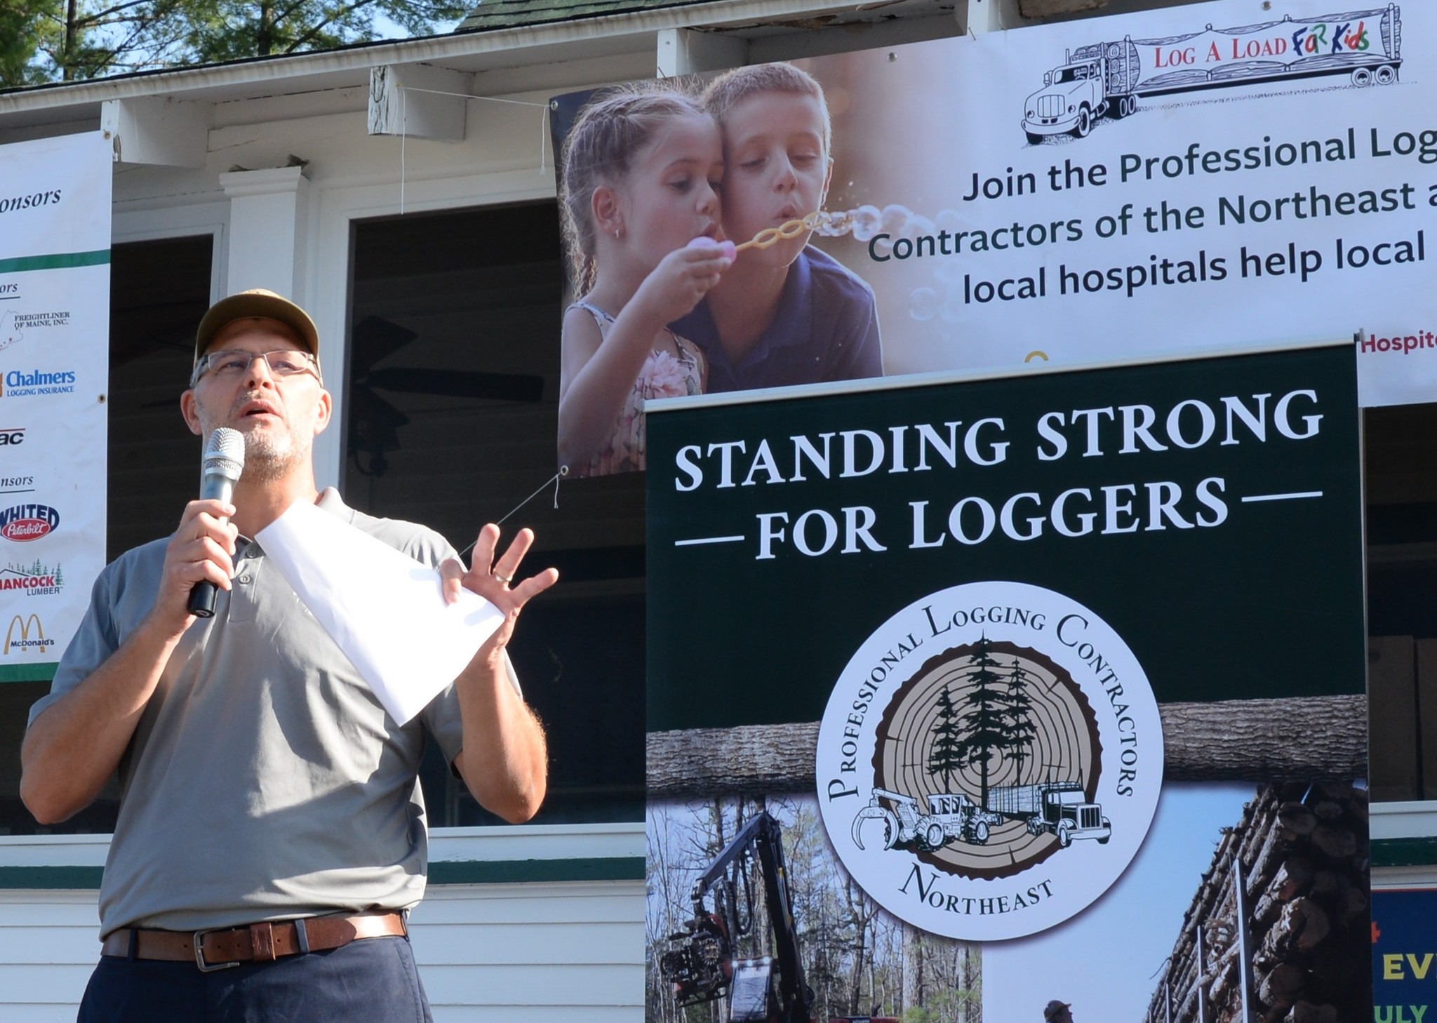
[[[954,586],[858,649],[819,730],[818,795],[854,879],[970,941],[1081,912],[1157,810],[1163,728],[1137,658],[1040,586]]]

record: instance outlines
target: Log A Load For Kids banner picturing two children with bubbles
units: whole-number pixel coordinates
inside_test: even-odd
[[[723,109],[708,93],[721,168],[698,136],[681,154],[628,154],[687,159],[698,200],[668,204],[642,167],[576,178],[614,203],[581,203],[568,237],[570,261],[598,274],[601,312],[566,318],[560,455],[595,473],[641,466],[642,398],[1217,339],[1361,330],[1362,404],[1431,401],[1434,40],[1431,4],[1230,0],[793,62],[813,95],[739,69],[720,101],[757,92]],[[700,201],[706,177],[721,203]],[[677,264],[658,266],[706,218],[772,244],[740,253],[674,336],[648,330],[658,303],[693,303]],[[639,267],[645,287],[606,279],[608,266]],[[595,323],[632,295],[644,315],[622,336],[621,318],[605,349],[609,328]],[[652,338],[632,333],[639,322]],[[638,366],[635,348],[652,358],[631,384],[615,366]]]

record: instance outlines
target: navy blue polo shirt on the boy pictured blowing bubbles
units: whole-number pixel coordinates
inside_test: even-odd
[[[874,289],[813,246],[789,264],[773,322],[739,365],[724,353],[707,302],[671,326],[708,356],[710,394],[884,375]]]

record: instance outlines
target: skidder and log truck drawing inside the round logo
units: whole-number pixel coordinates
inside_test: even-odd
[[[984,845],[992,829],[1006,820],[1022,820],[1029,835],[1055,835],[1062,849],[1076,839],[1106,845],[1112,838],[1102,806],[1088,800],[1079,782],[993,786],[984,806],[963,793],[933,793],[925,810],[912,796],[875,787],[868,806],[854,818],[854,843],[859,849],[865,848],[864,832],[878,830],[869,820],[881,823],[884,849],[912,845],[923,852],[950,842]]]

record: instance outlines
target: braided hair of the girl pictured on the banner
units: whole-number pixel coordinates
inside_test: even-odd
[[[575,295],[592,290],[598,276],[593,190],[621,182],[658,125],[677,116],[708,115],[673,88],[621,86],[596,93],[575,118],[563,141],[559,195]]]

